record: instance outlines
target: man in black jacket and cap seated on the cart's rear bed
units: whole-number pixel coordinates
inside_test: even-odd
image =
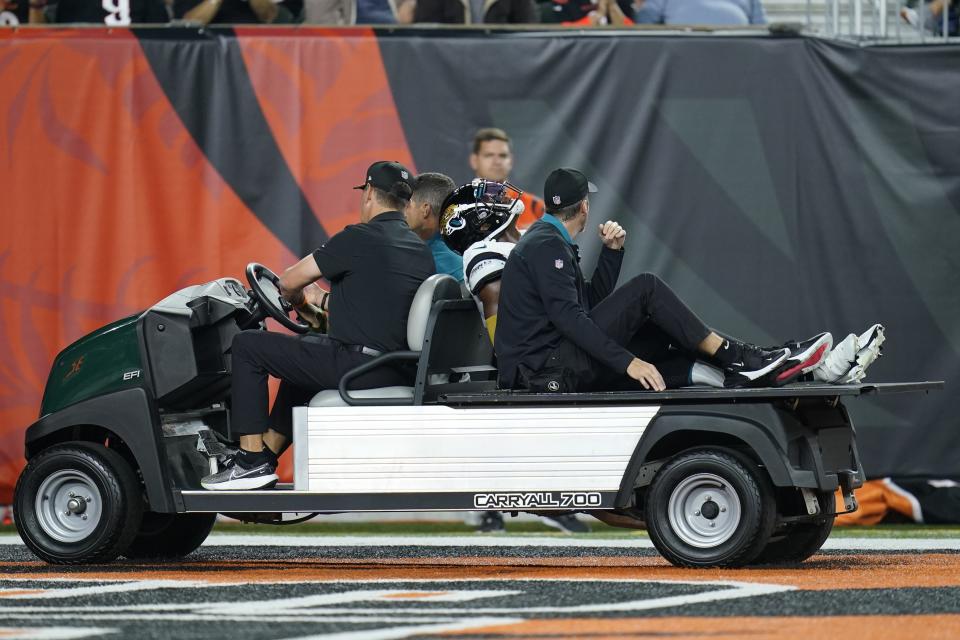
[[[700,354],[720,366],[726,386],[745,386],[790,357],[789,349],[720,337],[653,274],[614,290],[626,238],[616,222],[599,225],[604,246],[586,281],[573,240],[586,228],[589,194],[596,191],[576,169],[547,177],[547,213],[514,247],[500,283],[495,350],[501,387],[662,391],[689,384],[691,362]]]

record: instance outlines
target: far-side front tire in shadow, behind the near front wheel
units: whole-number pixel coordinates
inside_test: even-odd
[[[131,560],[174,559],[196,551],[217,522],[215,513],[143,514],[137,537],[123,552]]]

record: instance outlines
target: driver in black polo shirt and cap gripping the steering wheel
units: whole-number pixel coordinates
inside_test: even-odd
[[[284,271],[280,292],[294,307],[329,310],[327,334],[291,336],[244,331],[233,339],[231,427],[240,452],[205,489],[262,489],[277,482],[277,456],[293,432],[291,409],[323,389],[336,389],[349,370],[386,351],[407,348],[407,314],[420,284],[433,275],[430,249],[402,213],[412,193],[412,174],[396,162],[367,171],[360,200],[361,224],[350,225]],[[330,292],[316,281],[326,278]],[[267,376],[280,389],[267,415]],[[413,373],[385,366],[356,379],[355,388],[409,385]]]

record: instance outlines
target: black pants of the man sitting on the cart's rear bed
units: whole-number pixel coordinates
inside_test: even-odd
[[[710,334],[673,289],[652,273],[618,287],[590,312],[590,318],[617,344],[657,367],[671,389],[690,384],[697,348]],[[569,340],[557,348],[556,359],[572,369],[577,391],[642,388],[625,371],[613,371]]]

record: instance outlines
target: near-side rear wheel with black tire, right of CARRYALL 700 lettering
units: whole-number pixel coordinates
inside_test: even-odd
[[[769,478],[726,449],[678,454],[646,495],[650,539],[680,567],[749,564],[770,539],[775,517]]]

